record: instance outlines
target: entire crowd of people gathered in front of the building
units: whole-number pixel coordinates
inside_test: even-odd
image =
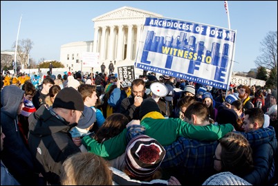
[[[1,74],[1,185],[277,185],[277,88],[105,68]]]

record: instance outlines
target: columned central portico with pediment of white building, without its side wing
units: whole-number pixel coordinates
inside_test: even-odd
[[[124,6],[95,17],[93,52],[101,60],[134,60],[145,17],[162,15]]]

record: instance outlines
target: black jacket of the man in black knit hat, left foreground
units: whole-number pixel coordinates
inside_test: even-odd
[[[39,172],[51,185],[59,185],[62,163],[68,156],[80,152],[75,145],[66,120],[41,106],[29,118],[28,145]]]

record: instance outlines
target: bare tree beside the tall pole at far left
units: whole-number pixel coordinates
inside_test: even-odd
[[[12,48],[15,48],[16,41],[12,45]],[[28,56],[30,50],[33,48],[33,41],[30,39],[21,39],[17,44],[17,55],[19,56],[19,60],[17,60],[18,64],[24,65],[24,68],[28,67]]]

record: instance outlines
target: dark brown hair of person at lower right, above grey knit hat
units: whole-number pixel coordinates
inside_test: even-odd
[[[253,169],[252,148],[241,133],[230,132],[219,140],[221,150],[221,171],[230,171],[244,176]]]

